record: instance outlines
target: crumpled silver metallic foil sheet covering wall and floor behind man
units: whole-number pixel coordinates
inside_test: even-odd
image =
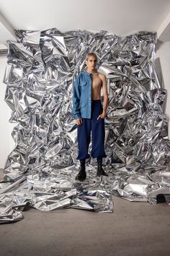
[[[112,195],[150,203],[164,195],[170,204],[166,90],[154,66],[156,34],[140,31],[121,38],[103,30],[53,28],[16,30],[16,38],[8,41],[4,74],[9,121],[17,125],[0,183],[0,221],[22,219],[27,207],[112,213]],[[96,177],[96,160],[90,159],[86,181],[77,182],[71,99],[89,51],[107,76],[104,168],[109,176]]]

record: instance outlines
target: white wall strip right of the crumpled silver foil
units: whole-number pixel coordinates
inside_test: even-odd
[[[165,116],[170,135],[170,42],[158,41],[156,43],[156,70],[159,76],[161,75],[163,88],[167,90]]]

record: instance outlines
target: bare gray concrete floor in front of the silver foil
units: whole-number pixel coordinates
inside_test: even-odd
[[[170,207],[113,197],[114,213],[30,209],[0,225],[0,255],[170,255]]]

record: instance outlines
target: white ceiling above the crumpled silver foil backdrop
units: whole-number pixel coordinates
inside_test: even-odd
[[[130,35],[141,30],[170,40],[170,0],[0,0],[0,47],[14,30],[107,30]]]

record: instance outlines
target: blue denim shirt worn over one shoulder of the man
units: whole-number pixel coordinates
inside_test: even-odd
[[[91,118],[91,75],[81,71],[73,84],[72,115],[75,119]]]

